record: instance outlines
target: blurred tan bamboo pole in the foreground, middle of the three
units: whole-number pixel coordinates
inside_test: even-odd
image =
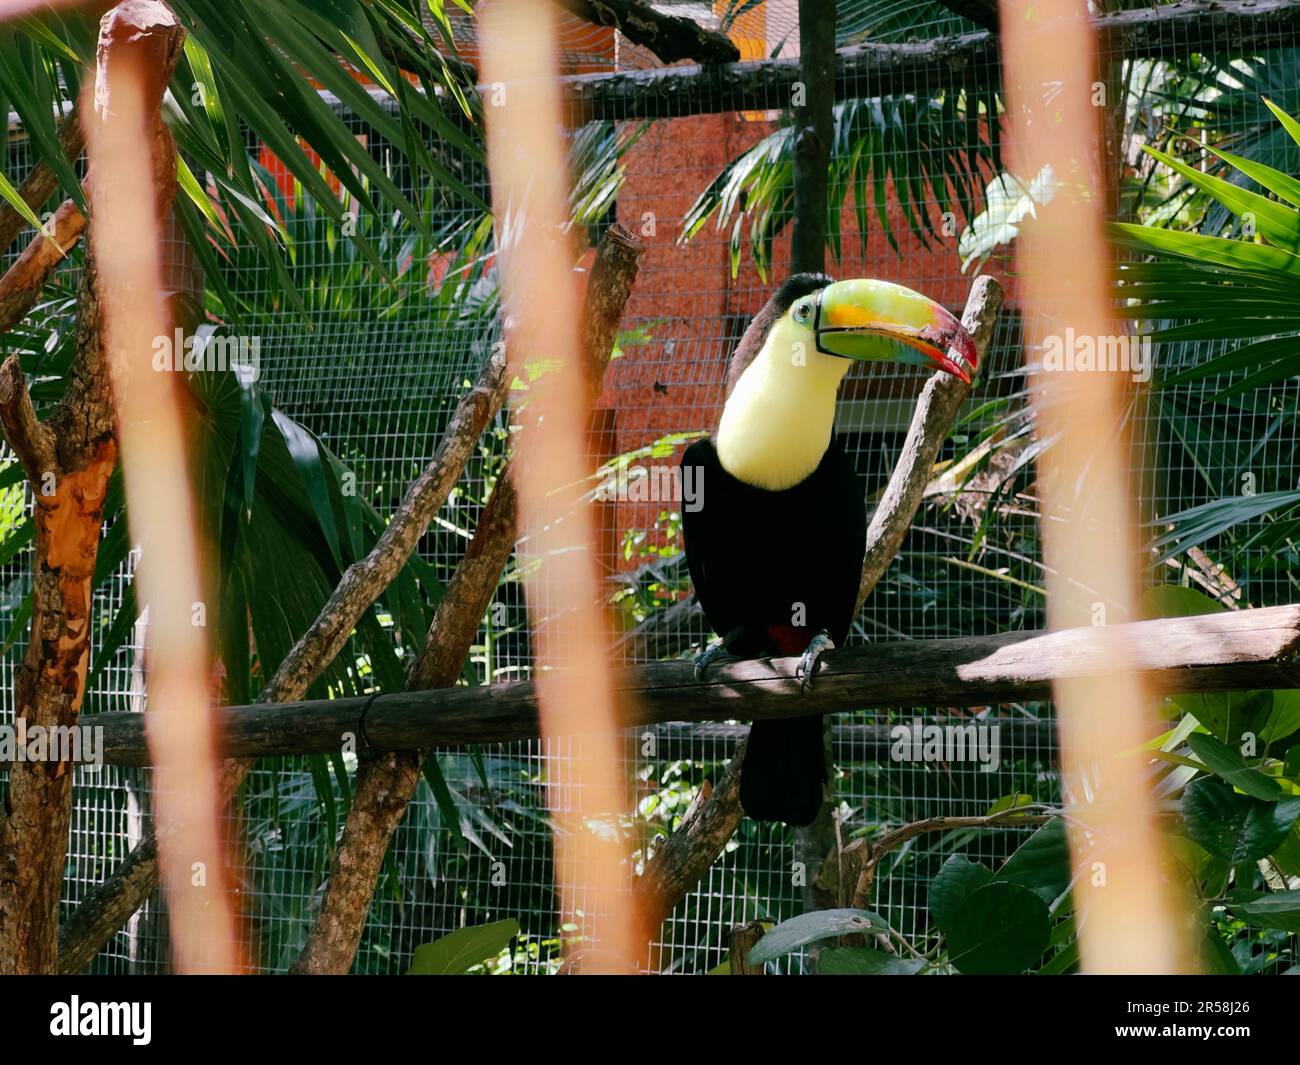
[[[621,830],[628,795],[594,516],[580,501],[590,472],[592,397],[566,233],[554,8],[547,0],[495,0],[480,16],[507,356],[514,375],[530,382],[514,476],[542,736],[589,733],[572,748],[569,801],[558,801],[555,782],[549,792],[560,919],[584,938],[581,971],[634,971],[646,936]]]

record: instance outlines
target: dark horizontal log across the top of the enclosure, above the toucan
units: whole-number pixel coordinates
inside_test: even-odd
[[[1105,48],[1131,59],[1190,52],[1249,55],[1290,47],[1300,30],[1294,0],[1192,0],[1092,20]],[[836,53],[835,99],[897,92],[931,95],[1001,79],[998,38],[988,30],[898,44],[864,43]],[[800,60],[682,65],[563,78],[571,121],[680,118],[789,107]]]

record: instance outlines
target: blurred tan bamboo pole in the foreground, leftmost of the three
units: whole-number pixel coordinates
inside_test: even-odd
[[[228,891],[209,719],[199,540],[190,490],[179,381],[155,371],[155,338],[170,337],[161,293],[160,189],[174,187],[176,147],[159,108],[157,70],[183,31],[160,3],[129,0],[100,22],[92,107],[86,116],[91,242],[100,280],[105,354],[135,575],[148,616],[150,746],[157,765],[160,865],[178,973],[234,973],[238,935]],[[90,91],[90,90],[87,90]],[[90,101],[88,101],[90,103]],[[170,203],[170,195],[165,195]]]

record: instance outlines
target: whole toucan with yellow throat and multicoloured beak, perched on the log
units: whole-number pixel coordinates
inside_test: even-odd
[[[866,486],[833,438],[853,362],[937,367],[967,384],[976,351],[942,306],[901,285],[797,273],[755,315],[727,365],[718,429],[681,456],[686,566],[720,658],[800,655],[801,690],[842,645],[866,551]],[[688,481],[685,479],[694,479]],[[754,722],[740,800],[755,821],[811,824],[826,791],[822,719]]]

